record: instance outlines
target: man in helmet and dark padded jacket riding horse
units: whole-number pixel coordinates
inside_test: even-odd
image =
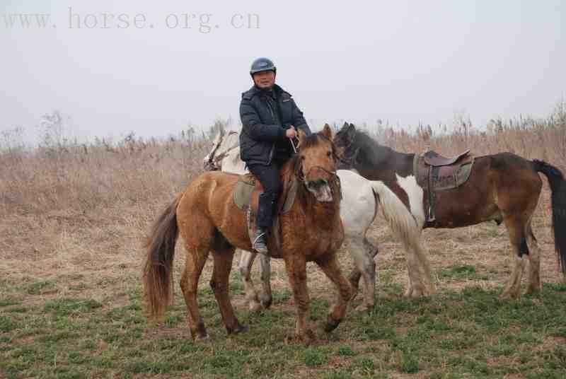
[[[264,189],[259,199],[258,228],[253,241],[253,248],[261,254],[267,254],[265,237],[272,226],[277,199],[283,188],[279,168],[294,153],[296,128],[311,134],[303,112],[291,94],[275,84],[276,72],[270,59],[255,59],[250,69],[254,85],[242,93],[240,103],[241,159]]]

